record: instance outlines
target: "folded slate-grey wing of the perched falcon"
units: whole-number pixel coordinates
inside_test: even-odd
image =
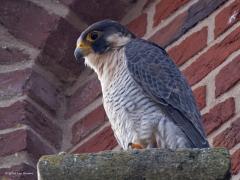
[[[208,147],[192,91],[165,50],[134,39],[126,45],[125,55],[133,79],[180,127],[191,147]]]

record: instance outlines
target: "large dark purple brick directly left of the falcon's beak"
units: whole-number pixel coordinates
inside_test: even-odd
[[[37,63],[55,74],[64,83],[70,84],[85,67],[84,61],[77,64],[73,55],[80,33],[65,19],[60,18],[37,58]]]

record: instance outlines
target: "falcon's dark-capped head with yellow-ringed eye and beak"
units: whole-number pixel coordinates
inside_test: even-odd
[[[77,40],[77,61],[91,54],[104,54],[127,44],[135,35],[113,20],[96,22],[84,30]]]

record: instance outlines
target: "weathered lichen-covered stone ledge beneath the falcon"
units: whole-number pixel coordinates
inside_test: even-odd
[[[224,148],[47,155],[38,162],[39,180],[227,180],[230,176],[230,155]]]

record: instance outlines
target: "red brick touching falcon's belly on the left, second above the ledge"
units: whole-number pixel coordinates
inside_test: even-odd
[[[77,144],[106,121],[103,106],[99,106],[90,114],[76,122],[72,127],[72,144]]]

